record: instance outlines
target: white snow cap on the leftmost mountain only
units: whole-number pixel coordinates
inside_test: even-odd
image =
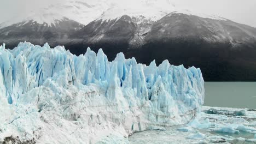
[[[102,14],[102,11],[107,10],[108,7],[109,3],[105,0],[88,0],[86,2],[82,0],[50,1],[49,3],[37,4],[35,7],[20,11],[19,14],[10,17],[9,20],[0,20],[0,28],[31,20],[51,26],[65,17],[86,25],[97,19]]]

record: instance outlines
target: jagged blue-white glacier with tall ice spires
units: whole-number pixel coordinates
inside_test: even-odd
[[[199,68],[167,60],[147,66],[123,53],[109,62],[102,49],[75,56],[47,43],[3,44],[0,143],[97,143],[186,124],[201,111],[203,84]]]

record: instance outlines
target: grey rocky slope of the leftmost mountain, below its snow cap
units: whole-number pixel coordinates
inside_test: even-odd
[[[83,27],[82,24],[63,18],[50,25],[46,22],[40,24],[37,21],[26,21],[0,29],[0,37],[4,43],[16,45],[18,41],[28,40],[36,44],[64,43],[69,33]]]

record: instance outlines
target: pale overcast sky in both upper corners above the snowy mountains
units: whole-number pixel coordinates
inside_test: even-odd
[[[30,9],[60,0],[0,0],[0,22]],[[85,0],[86,1],[86,0]],[[95,0],[97,1],[97,0]],[[127,0],[128,1],[128,0]],[[162,0],[166,1],[166,0]],[[176,7],[198,13],[214,14],[256,27],[256,0],[168,0]]]

